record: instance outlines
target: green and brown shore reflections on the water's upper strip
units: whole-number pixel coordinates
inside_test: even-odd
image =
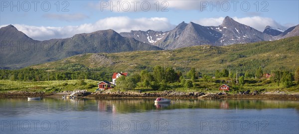
[[[153,99],[0,99],[0,115],[24,116],[64,111],[98,111],[108,114],[141,113],[171,109],[286,109],[299,110],[299,101],[279,100],[173,100],[170,104],[154,104]]]

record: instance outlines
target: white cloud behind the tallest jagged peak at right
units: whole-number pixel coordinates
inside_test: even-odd
[[[273,20],[269,17],[261,17],[261,16],[253,16],[253,17],[232,17],[234,20],[236,20],[239,23],[249,25],[259,31],[264,31],[265,27],[267,25],[281,28],[281,29],[287,29],[289,28],[288,25],[282,25]],[[218,18],[202,18],[199,20],[194,20],[195,23],[198,23],[200,25],[205,26],[218,26],[222,23],[224,17],[218,17]]]

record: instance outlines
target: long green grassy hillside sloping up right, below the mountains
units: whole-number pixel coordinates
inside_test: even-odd
[[[213,73],[224,68],[241,73],[246,70],[255,72],[260,66],[269,73],[271,70],[293,72],[299,66],[299,36],[219,47],[203,45],[163,51],[81,54],[32,68],[56,71],[108,68],[134,72],[151,69],[155,65],[173,67],[182,72],[194,67],[201,73]]]

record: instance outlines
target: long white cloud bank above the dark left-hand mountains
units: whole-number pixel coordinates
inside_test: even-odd
[[[36,40],[48,40],[52,38],[67,38],[78,33],[90,33],[97,30],[113,29],[117,32],[129,32],[131,30],[156,30],[165,31],[175,27],[164,17],[129,18],[126,16],[107,17],[95,23],[85,23],[77,26],[31,26],[13,24],[19,31]],[[0,25],[3,27],[6,25]]]

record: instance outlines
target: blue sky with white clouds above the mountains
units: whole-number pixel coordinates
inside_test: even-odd
[[[1,27],[13,24],[37,40],[104,29],[165,31],[182,21],[216,26],[225,16],[260,31],[299,24],[299,0],[1,0],[0,7]]]

